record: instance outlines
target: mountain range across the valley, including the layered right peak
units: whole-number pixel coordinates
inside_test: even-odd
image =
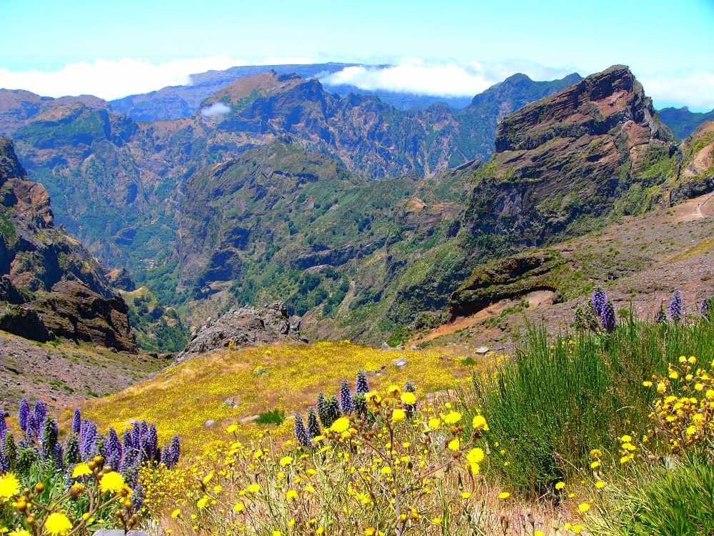
[[[0,91],[0,132],[63,229],[128,270],[135,323],[279,299],[308,337],[379,342],[476,312],[484,262],[710,189],[708,131],[678,144],[625,66],[408,111],[236,69],[121,104]]]

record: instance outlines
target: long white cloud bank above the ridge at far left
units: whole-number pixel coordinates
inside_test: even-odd
[[[165,86],[191,84],[190,75],[222,70],[245,62],[223,56],[177,59],[158,64],[142,59],[96,59],[67,64],[56,71],[0,69],[0,88],[26,89],[43,96],[91,94],[102,99],[146,93]]]

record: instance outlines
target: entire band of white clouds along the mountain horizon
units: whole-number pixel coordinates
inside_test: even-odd
[[[322,60],[324,61],[324,60]],[[616,61],[613,60],[613,63]],[[306,64],[318,60],[298,58],[266,58],[251,64]],[[55,71],[10,71],[0,68],[0,88],[27,89],[46,96],[93,94],[102,99],[147,93],[166,86],[191,83],[191,74],[223,70],[248,64],[243,59],[214,56],[199,59],[177,59],[151,63],[143,59],[96,59],[67,64]],[[599,66],[597,71],[608,65]],[[698,69],[658,73],[638,72],[630,65],[653,97],[655,106],[689,106],[690,109],[714,108],[714,69]],[[534,80],[553,80],[578,71],[587,76],[590,71],[573,66],[548,67],[533,61],[478,62],[424,61],[403,59],[391,66],[347,67],[322,80],[326,84],[349,84],[365,90],[400,91],[435,96],[473,96],[511,74],[522,72]],[[220,111],[211,111],[213,115]]]

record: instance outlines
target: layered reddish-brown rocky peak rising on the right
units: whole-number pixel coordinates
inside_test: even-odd
[[[473,234],[539,244],[618,200],[641,211],[675,174],[670,131],[626,66],[613,66],[503,119],[464,212]]]

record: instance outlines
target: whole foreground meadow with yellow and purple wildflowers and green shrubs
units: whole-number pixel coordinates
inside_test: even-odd
[[[216,419],[205,437],[193,427],[190,441],[146,420],[116,427],[149,384],[109,397],[117,415],[89,405],[104,417],[97,424],[79,410],[61,417],[65,430],[41,402],[24,401],[16,419],[0,421],[0,531],[712,534],[710,311],[688,312],[676,292],[655,319],[638,319],[596,289],[570,332],[528,325],[510,356],[467,364],[412,352],[409,366],[384,368],[380,351],[347,343],[251,349],[223,382],[252,377],[267,393],[283,377],[271,377],[281,352],[296,392],[309,383],[300,352],[312,356],[306,364],[332,352],[333,367],[292,406],[271,399],[261,420]],[[249,360],[264,352],[266,364]],[[206,359],[160,374],[154,389],[163,386],[168,403],[193,374],[193,389],[211,385],[220,399],[228,389],[208,371],[223,358]],[[164,421],[181,418],[161,411]]]

